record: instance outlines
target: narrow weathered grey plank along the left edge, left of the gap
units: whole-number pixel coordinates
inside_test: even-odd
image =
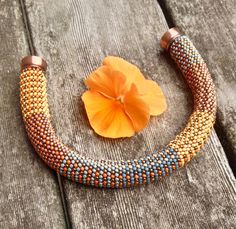
[[[19,103],[20,59],[29,54],[19,1],[0,1],[0,228],[64,228],[55,176],[27,140]]]

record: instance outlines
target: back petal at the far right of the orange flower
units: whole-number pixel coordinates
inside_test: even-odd
[[[160,115],[166,110],[165,96],[155,81],[137,81],[135,85],[142,99],[149,105],[150,115]]]

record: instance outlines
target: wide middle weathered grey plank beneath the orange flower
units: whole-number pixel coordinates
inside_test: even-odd
[[[182,129],[191,113],[191,96],[159,48],[168,28],[156,1],[26,3],[37,53],[49,63],[49,103],[63,142],[92,158],[128,159],[168,143]],[[165,114],[130,139],[95,135],[80,98],[86,89],[83,79],[107,55],[138,65],[167,97]],[[99,190],[63,181],[74,228],[235,226],[235,179],[215,133],[187,168],[158,185]]]

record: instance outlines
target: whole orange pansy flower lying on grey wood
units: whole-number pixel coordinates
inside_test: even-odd
[[[108,56],[85,80],[82,95],[89,122],[104,137],[130,137],[142,130],[150,115],[166,110],[161,88],[119,57]]]

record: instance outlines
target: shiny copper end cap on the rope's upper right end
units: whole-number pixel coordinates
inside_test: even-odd
[[[160,45],[163,49],[168,51],[170,44],[179,36],[181,36],[182,33],[179,31],[177,27],[173,27],[169,29],[167,32],[164,33],[164,35],[161,38]]]

